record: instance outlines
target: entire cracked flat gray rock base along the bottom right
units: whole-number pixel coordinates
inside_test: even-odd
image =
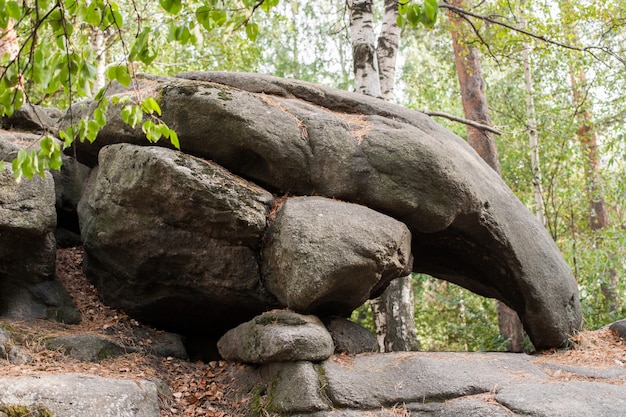
[[[334,355],[321,363],[317,378],[311,364],[290,365],[288,372],[277,364],[264,365],[261,374],[268,387],[287,376],[300,383],[284,388],[280,405],[269,399],[276,398],[272,391],[261,401],[268,399],[266,410],[276,407],[281,415],[309,417],[623,415],[626,386],[615,380],[559,379],[544,373],[544,366],[532,356],[508,353]],[[330,408],[295,405],[305,395]]]

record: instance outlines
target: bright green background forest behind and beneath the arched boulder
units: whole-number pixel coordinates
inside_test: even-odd
[[[139,72],[260,72],[352,90],[348,3],[0,0],[0,46],[13,30],[19,40],[19,50],[0,61],[0,116],[23,101],[65,108]],[[380,31],[384,4],[373,4]],[[501,133],[501,175],[572,268],[584,327],[624,318],[626,3],[439,6],[434,24],[412,25],[415,15],[406,10],[399,20],[409,24],[400,36],[395,101],[464,118],[451,34],[478,51],[492,125]],[[454,7],[467,13],[451,17]],[[465,124],[436,120],[467,138]],[[85,126],[84,136],[98,123]],[[422,349],[506,348],[494,300],[423,275],[413,275],[412,286]],[[353,317],[371,325],[368,311]]]

